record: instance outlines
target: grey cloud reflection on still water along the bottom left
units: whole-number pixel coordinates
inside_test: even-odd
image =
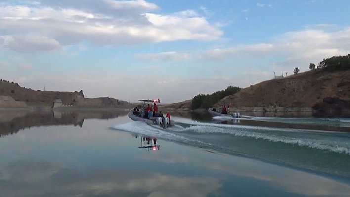
[[[0,180],[0,196],[206,197],[221,187],[219,180],[211,177],[175,177],[119,169],[81,172],[34,161],[0,166]]]

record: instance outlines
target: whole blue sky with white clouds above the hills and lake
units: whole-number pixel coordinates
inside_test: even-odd
[[[0,78],[163,103],[350,53],[348,0],[0,0]]]

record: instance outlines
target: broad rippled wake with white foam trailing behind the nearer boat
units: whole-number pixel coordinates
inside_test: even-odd
[[[179,117],[172,119],[176,121],[176,126],[166,130],[136,121],[115,125],[113,129],[217,153],[350,177],[350,133],[216,124]]]

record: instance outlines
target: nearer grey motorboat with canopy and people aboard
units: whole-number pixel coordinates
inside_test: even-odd
[[[157,101],[153,100],[139,100],[141,101],[141,109],[139,111],[130,110],[128,113],[128,117],[134,121],[143,121],[151,126],[157,126],[159,128],[167,129],[168,127],[174,126],[175,122],[170,120],[170,114],[167,113],[167,116],[164,117],[160,113],[156,113],[153,117],[149,119],[145,116],[145,109],[150,104],[150,107],[153,107],[154,103]],[[158,101],[159,102],[159,101]]]

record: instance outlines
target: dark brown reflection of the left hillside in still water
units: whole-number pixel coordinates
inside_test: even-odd
[[[52,125],[83,126],[84,119],[110,119],[126,115],[124,111],[0,111],[0,137],[31,127]]]

